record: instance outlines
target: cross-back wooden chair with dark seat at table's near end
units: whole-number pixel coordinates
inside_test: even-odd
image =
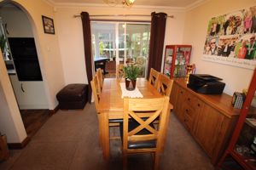
[[[148,113],[148,115],[146,115]],[[127,167],[127,155],[154,153],[154,170],[159,169],[160,154],[166,140],[170,115],[169,97],[154,99],[124,99],[123,167]],[[152,122],[160,118],[158,128]]]

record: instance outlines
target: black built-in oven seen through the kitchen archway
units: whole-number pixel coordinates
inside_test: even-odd
[[[42,81],[33,37],[9,37],[9,47],[19,81]]]

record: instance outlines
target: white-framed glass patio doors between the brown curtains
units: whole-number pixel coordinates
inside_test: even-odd
[[[131,62],[141,67],[145,77],[150,23],[92,21],[91,30],[94,58],[109,58],[116,65]]]

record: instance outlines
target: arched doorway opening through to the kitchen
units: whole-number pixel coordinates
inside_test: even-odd
[[[3,3],[0,16],[4,62],[27,136],[31,138],[49,118],[32,24],[27,14],[13,3]]]

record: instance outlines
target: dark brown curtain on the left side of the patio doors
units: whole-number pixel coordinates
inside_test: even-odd
[[[90,17],[87,12],[81,13],[81,19],[83,24],[83,35],[84,35],[84,58],[85,67],[87,73],[87,79],[89,84],[88,101],[91,103],[91,87],[90,81],[92,80],[92,55],[91,55],[91,34],[90,34]]]

